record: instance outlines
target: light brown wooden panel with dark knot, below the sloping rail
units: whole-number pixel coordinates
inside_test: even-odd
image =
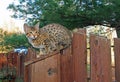
[[[31,82],[60,82],[59,54],[31,64]]]

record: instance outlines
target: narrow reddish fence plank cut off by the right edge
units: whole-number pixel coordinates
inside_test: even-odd
[[[115,53],[115,79],[120,82],[120,38],[114,39]]]

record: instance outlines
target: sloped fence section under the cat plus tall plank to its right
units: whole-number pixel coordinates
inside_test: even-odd
[[[63,51],[40,58],[32,58],[33,55],[28,53],[24,62],[24,81],[87,82],[86,34],[85,30],[80,32],[74,33],[73,46]]]

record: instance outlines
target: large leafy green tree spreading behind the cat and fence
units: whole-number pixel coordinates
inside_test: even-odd
[[[116,29],[120,26],[120,0],[19,0],[8,9],[14,18],[25,19],[30,24],[40,21],[40,26],[60,23],[69,29],[94,24],[106,24]]]

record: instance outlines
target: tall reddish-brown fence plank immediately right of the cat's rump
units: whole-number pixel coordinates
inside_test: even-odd
[[[73,65],[75,82],[87,82],[87,45],[85,30],[73,34]]]

